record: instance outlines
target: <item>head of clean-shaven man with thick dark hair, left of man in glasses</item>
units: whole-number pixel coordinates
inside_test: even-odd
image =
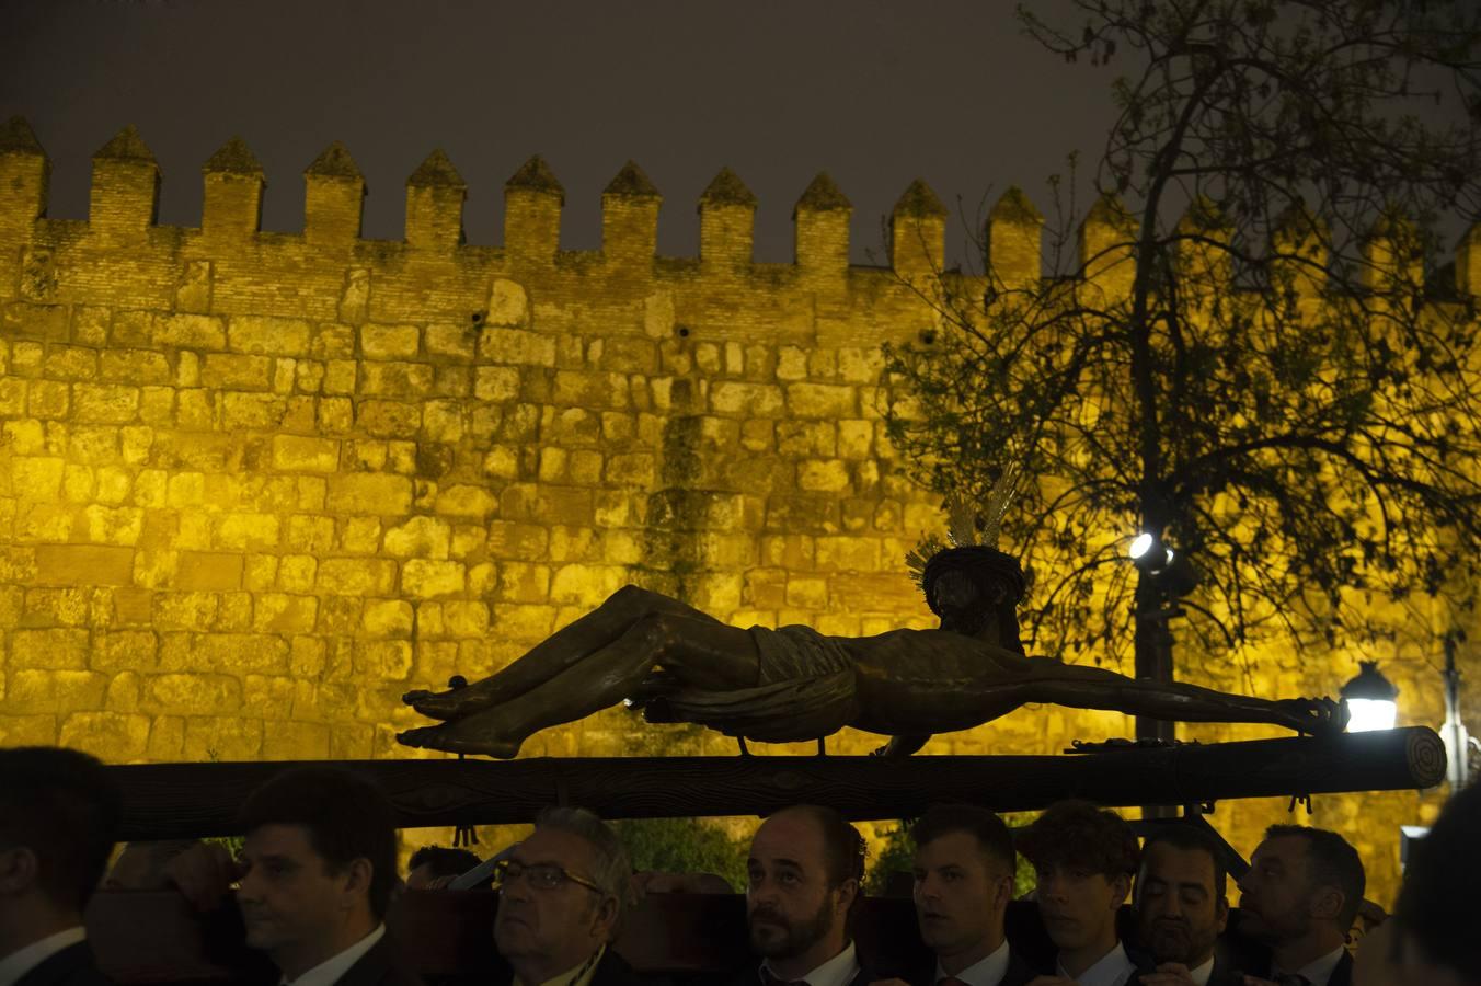
[[[287,986],[421,986],[385,937],[395,816],[379,788],[335,767],[289,770],[252,792],[238,823],[247,945]]]

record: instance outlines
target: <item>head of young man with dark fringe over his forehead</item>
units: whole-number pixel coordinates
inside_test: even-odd
[[[1137,863],[1136,835],[1118,814],[1060,801],[1023,831],[1019,851],[1034,865],[1038,912],[1057,949],[1054,976],[1034,985],[1126,986],[1152,973],[1127,955],[1117,931]]]

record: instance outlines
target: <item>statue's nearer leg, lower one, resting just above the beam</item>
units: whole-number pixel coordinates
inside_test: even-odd
[[[532,733],[616,705],[658,666],[699,688],[748,688],[760,677],[748,631],[708,616],[650,613],[581,663],[508,702],[397,739],[407,746],[509,758]]]

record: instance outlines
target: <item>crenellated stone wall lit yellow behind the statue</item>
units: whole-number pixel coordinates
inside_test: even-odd
[[[407,181],[404,241],[358,237],[364,182],[338,144],[305,172],[302,234],[258,228],[262,169],[240,141],[204,167],[200,228],[154,224],[158,169],[132,129],[93,158],[86,222],[46,218],[47,173],[12,120],[0,743],[114,762],[425,755],[394,742],[419,722],[403,691],[487,675],[629,582],[742,626],[933,625],[902,560],[942,521],[884,438],[880,379],[883,342],[937,326],[915,287],[940,268],[945,210],[923,184],[895,209],[890,266],[860,268],[826,175],[797,203],[795,262],[754,264],[755,200],[729,170],[693,259],[655,256],[661,197],[631,164],[585,253],[558,249],[564,191],[539,158],[505,187],[502,247],[462,243],[465,185],[440,152]],[[995,216],[1006,277],[1037,275],[1031,212]],[[1180,669],[1263,694],[1334,693],[1352,671]],[[1432,691],[1410,672],[1403,687]],[[618,755],[632,728],[609,711],[524,752]],[[1023,709],[927,752],[1130,731]],[[1330,798],[1314,820],[1368,851],[1382,897],[1397,825],[1426,805]],[[1284,808],[1216,822],[1248,851]]]

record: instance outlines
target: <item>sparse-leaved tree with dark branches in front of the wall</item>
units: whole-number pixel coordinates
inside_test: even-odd
[[[1481,10],[1074,6],[1083,30],[1019,18],[1124,73],[1099,197],[1075,228],[1053,184],[1049,275],[1009,190],[985,277],[915,281],[940,324],[890,351],[896,444],[940,492],[1031,477],[1003,540],[1040,651],[1170,678],[1176,616],[1228,650],[1392,634],[1376,595],[1469,606],[1481,229],[1435,268],[1481,204]]]

